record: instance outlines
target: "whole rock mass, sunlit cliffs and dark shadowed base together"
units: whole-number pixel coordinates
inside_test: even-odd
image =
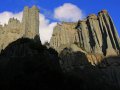
[[[36,42],[38,18],[25,7],[22,22],[0,25],[0,90],[120,90],[120,39],[107,11],[58,24],[50,45],[59,54]]]

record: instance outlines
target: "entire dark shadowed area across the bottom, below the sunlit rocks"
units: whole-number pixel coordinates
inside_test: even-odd
[[[92,66],[81,52],[58,53],[32,39],[21,38],[0,54],[1,90],[117,90],[119,57]]]

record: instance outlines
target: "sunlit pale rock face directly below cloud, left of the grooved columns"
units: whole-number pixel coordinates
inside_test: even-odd
[[[58,23],[54,28],[50,45],[58,52],[63,50],[67,45],[79,42],[78,34],[76,32],[77,23]]]

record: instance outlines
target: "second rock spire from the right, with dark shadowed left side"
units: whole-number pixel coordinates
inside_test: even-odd
[[[87,18],[87,25],[89,31],[89,37],[92,38],[90,40],[91,48],[93,49],[93,53],[102,54],[102,37],[99,27],[99,22],[97,20],[97,16],[95,14],[91,14]],[[91,35],[92,34],[92,35]]]

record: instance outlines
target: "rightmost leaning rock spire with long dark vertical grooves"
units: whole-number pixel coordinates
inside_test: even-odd
[[[115,35],[116,29],[106,10],[102,10],[98,14],[101,32],[103,36],[103,52],[106,56],[116,55],[119,53],[118,35]]]

